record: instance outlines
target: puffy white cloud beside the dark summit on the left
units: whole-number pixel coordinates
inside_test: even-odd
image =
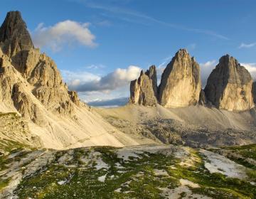
[[[95,36],[89,30],[90,23],[78,23],[76,21],[61,21],[54,26],[45,27],[39,23],[33,31],[33,43],[38,48],[48,47],[53,51],[58,51],[65,44],[80,43],[94,47],[97,45]]]

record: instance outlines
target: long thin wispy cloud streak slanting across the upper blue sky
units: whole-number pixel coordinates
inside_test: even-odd
[[[175,28],[175,29],[182,30],[182,31],[190,31],[190,32],[193,32],[193,33],[201,33],[201,34],[205,34],[205,35],[208,35],[208,36],[213,36],[215,38],[220,38],[220,39],[223,39],[223,40],[229,40],[228,37],[223,36],[220,33],[216,33],[215,31],[210,31],[210,30],[201,29],[201,28],[191,28],[191,27],[187,27],[187,26],[183,26],[183,25],[178,25],[178,24],[175,24],[175,23],[168,23],[168,22],[156,19],[154,17],[148,16],[146,14],[142,14],[140,12],[133,11],[133,10],[130,10],[130,9],[124,9],[122,7],[119,7],[119,6],[109,6],[107,4],[95,3],[95,1],[90,1],[90,0],[70,0],[70,1],[76,1],[78,3],[84,4],[85,6],[91,8],[91,9],[100,9],[102,11],[107,11],[107,12],[111,12],[111,13],[114,13],[114,14],[122,14],[122,15],[125,15],[125,16],[132,16],[132,17],[135,17],[135,18],[140,18],[140,19],[143,19],[145,21],[150,21],[152,23],[158,23],[162,26],[167,26],[167,27]],[[129,20],[129,21],[131,21],[131,20]],[[146,25],[148,25],[148,24],[146,23]]]

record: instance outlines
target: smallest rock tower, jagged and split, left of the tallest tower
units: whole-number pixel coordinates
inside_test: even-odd
[[[155,106],[157,104],[156,91],[156,67],[151,66],[146,73],[142,70],[138,80],[131,82],[129,102],[144,106]]]

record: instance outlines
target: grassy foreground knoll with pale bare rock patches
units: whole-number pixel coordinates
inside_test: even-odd
[[[242,151],[253,156],[244,156]],[[173,145],[16,149],[0,158],[1,198],[255,198],[256,170]],[[239,146],[256,161],[256,145]],[[213,152],[215,151],[215,152]]]

